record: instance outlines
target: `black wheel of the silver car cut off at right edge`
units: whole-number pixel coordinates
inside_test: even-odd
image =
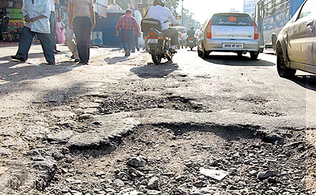
[[[277,53],[277,69],[278,74],[281,78],[291,79],[296,74],[296,69],[286,67],[283,52],[281,49],[279,49]]]

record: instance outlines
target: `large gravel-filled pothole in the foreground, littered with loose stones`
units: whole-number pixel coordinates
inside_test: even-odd
[[[146,183],[154,176],[162,181],[155,188],[155,193],[161,195],[177,194],[179,189],[194,194],[203,187],[221,195],[226,192],[242,195],[306,193],[304,144],[267,143],[257,130],[255,127],[190,124],[141,125],[122,138],[112,152],[106,149],[76,151],[71,164],[64,163],[64,171],[53,182],[58,186],[54,193],[70,188],[80,189],[83,194],[94,195],[106,190],[118,194],[123,189],[133,188],[151,194],[154,192]],[[291,141],[297,141],[295,139],[299,138]],[[143,159],[144,166],[127,166],[133,156]],[[199,172],[201,168],[228,171],[230,175],[216,181],[203,176]],[[259,180],[258,174],[265,171],[275,171],[276,176]],[[122,180],[121,187],[115,184],[116,178]]]

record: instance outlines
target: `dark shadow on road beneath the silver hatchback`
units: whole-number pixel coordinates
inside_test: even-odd
[[[205,61],[228,65],[228,66],[275,66],[275,63],[265,61],[262,59],[252,60],[249,57],[242,56],[224,56],[224,55],[210,55],[208,58],[204,59]]]

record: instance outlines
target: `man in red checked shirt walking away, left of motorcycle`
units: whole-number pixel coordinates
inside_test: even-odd
[[[116,24],[116,36],[121,33],[121,41],[123,43],[123,48],[125,50],[125,56],[130,56],[130,50],[132,48],[133,34],[134,31],[137,32],[138,37],[140,37],[140,27],[136,19],[132,16],[132,10],[127,9],[125,15],[123,15],[118,23]]]

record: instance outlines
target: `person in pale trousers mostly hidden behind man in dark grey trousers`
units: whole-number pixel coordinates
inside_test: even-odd
[[[70,12],[70,4],[68,3],[68,14]],[[71,59],[74,59],[74,62],[79,62],[79,54],[77,49],[77,42],[75,40],[74,32],[70,28],[70,17],[68,17],[67,26],[66,26],[66,42],[68,45],[68,48],[70,49],[72,56]]]

